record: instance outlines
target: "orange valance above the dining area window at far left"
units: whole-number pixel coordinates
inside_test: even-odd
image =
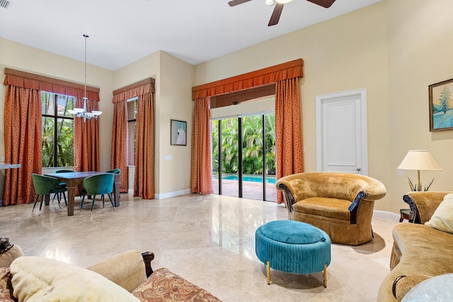
[[[83,98],[85,94],[84,85],[10,68],[5,68],[4,85],[71,95],[76,98]],[[86,94],[89,100],[99,101],[99,88],[86,86]]]

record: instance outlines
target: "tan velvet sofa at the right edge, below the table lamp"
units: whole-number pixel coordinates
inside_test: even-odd
[[[453,196],[448,193],[409,192],[403,197],[411,207],[410,223],[398,223],[393,228],[391,271],[382,281],[378,301],[401,301],[420,281],[453,272],[453,230],[437,229],[444,228],[444,214],[450,228],[453,224]],[[424,224],[427,221],[430,226]]]

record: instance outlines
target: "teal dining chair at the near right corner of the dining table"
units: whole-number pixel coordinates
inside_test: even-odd
[[[112,200],[112,192],[113,192],[113,182],[115,180],[115,176],[112,173],[105,173],[105,174],[98,174],[93,176],[88,176],[88,178],[84,179],[82,185],[84,186],[83,190],[83,197],[82,197],[82,204],[80,207],[80,211],[84,209],[84,202],[86,195],[92,195],[93,203],[91,204],[91,214],[93,214],[94,209],[94,202],[96,202],[96,195],[101,195],[101,202],[104,206],[104,197],[105,194],[108,194],[108,198],[110,198],[110,202],[112,203],[113,209],[115,209],[115,204],[113,204]]]

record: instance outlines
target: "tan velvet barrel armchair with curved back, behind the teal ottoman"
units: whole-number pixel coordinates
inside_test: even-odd
[[[385,196],[382,182],[365,175],[309,172],[277,180],[290,220],[328,233],[333,243],[360,245],[372,240],[374,201]]]

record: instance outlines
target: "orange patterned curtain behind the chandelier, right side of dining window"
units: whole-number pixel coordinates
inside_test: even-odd
[[[76,108],[84,107],[83,98],[76,99]],[[86,100],[86,110],[98,110],[96,100]],[[99,120],[74,118],[74,169],[99,171]]]

